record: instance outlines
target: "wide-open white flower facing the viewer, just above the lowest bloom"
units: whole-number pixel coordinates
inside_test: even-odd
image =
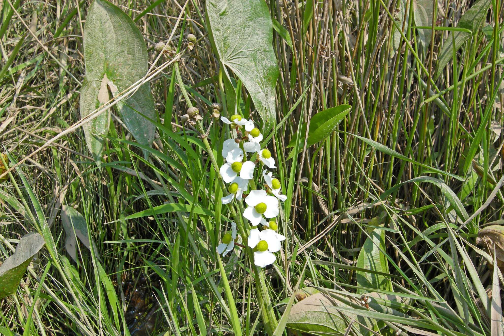
[[[253,226],[262,223],[263,215],[266,218],[278,216],[278,199],[269,196],[265,190],[250,191],[245,197],[245,203],[248,207],[243,211],[243,217],[248,219]]]

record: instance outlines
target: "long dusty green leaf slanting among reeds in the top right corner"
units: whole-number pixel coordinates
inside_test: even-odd
[[[469,29],[470,31],[472,31],[472,34],[475,34],[483,20],[486,18],[486,13],[488,12],[490,4],[490,0],[479,0],[479,2],[474,4],[470,9],[467,10],[467,12],[464,13],[464,15],[460,17],[457,28]],[[471,38],[472,34],[465,31],[450,32],[450,34],[448,34],[448,38],[443,44],[441,52],[438,56],[439,60],[437,63],[437,72],[435,76],[436,79],[443,72],[446,64],[453,57],[454,38],[455,50],[459,50],[459,48]]]

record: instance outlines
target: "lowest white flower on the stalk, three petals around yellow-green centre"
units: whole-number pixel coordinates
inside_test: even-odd
[[[266,229],[259,232],[259,229],[250,230],[248,236],[248,246],[258,251],[254,252],[254,263],[260,267],[265,267],[275,262],[277,257],[273,252],[278,252],[282,247],[281,241],[285,240],[283,235],[273,230]]]

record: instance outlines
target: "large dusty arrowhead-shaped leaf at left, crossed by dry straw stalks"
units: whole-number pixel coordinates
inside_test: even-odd
[[[128,15],[106,0],[94,0],[89,8],[84,27],[84,60],[82,117],[108,101],[108,91],[114,86],[120,93],[148,71],[147,47],[142,33]],[[151,146],[155,125],[141,115],[155,118],[150,84],[143,84],[117,109],[135,139]],[[103,150],[103,135],[108,131],[109,119],[110,112],[106,111],[84,127],[88,148],[97,161]]]

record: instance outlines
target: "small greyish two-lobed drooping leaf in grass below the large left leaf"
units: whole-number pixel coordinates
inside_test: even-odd
[[[65,239],[65,247],[68,254],[77,261],[77,240],[76,236],[82,241],[84,246],[90,249],[88,226],[86,219],[77,210],[72,207],[61,207],[61,222],[67,234]]]

